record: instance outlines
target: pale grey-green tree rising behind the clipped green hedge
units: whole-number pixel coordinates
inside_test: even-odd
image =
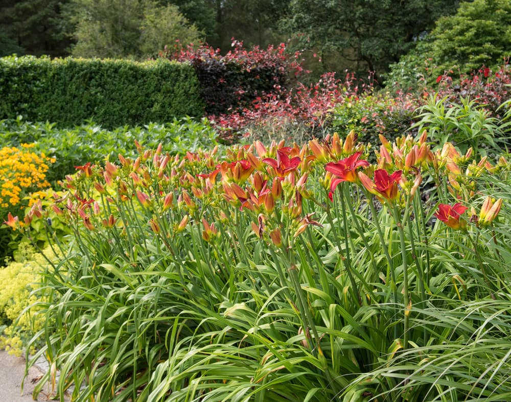
[[[73,56],[141,58],[176,40],[203,38],[175,5],[152,0],[72,0],[76,45]]]

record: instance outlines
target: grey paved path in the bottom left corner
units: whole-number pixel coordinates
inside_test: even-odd
[[[30,402],[34,383],[32,380],[38,379],[43,372],[41,369],[31,367],[29,374],[25,379],[23,392],[21,392],[21,382],[25,376],[25,358],[16,357],[0,350],[0,402]],[[49,387],[45,387],[36,400],[50,400]]]

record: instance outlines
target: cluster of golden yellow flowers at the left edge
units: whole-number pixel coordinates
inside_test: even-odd
[[[0,150],[0,208],[16,206],[25,193],[50,185],[46,173],[55,159],[31,152],[33,146],[22,144]]]

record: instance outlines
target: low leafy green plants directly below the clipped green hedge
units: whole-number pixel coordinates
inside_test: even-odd
[[[114,160],[119,154],[135,158],[135,140],[148,148],[164,144],[171,155],[195,152],[217,145],[217,132],[206,119],[174,119],[165,124],[118,127],[108,130],[95,123],[58,128],[51,123],[31,123],[24,117],[0,121],[0,148],[35,143],[34,150],[55,158],[47,179],[55,183],[87,162]]]

